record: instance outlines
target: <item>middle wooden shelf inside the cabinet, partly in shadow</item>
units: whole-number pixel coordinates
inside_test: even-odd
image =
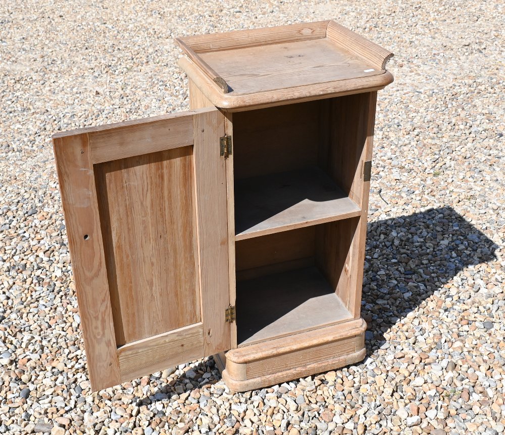
[[[235,181],[235,240],[360,215],[316,166]]]

